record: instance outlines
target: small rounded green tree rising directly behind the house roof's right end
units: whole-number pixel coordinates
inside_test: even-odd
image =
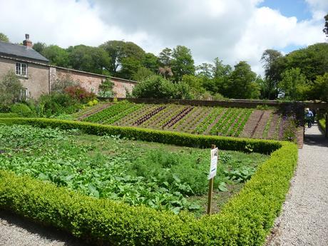
[[[46,57],[51,65],[68,67],[69,59],[68,52],[59,46],[50,45],[43,48],[41,54]]]

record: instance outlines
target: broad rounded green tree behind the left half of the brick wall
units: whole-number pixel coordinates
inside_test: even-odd
[[[104,74],[104,69],[110,66],[108,53],[102,48],[81,44],[69,47],[68,51],[69,63],[74,69]]]

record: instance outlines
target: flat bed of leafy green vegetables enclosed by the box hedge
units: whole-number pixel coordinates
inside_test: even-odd
[[[201,215],[209,150],[96,136],[78,130],[0,125],[0,168],[96,198]],[[268,156],[220,151],[217,211]],[[221,199],[222,198],[222,199]]]

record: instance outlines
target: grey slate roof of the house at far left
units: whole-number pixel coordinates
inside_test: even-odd
[[[22,46],[15,43],[6,43],[3,41],[0,41],[0,54],[6,56],[15,56],[19,58],[31,59],[42,63],[49,62],[47,58],[41,56],[41,54],[34,51],[33,48]]]

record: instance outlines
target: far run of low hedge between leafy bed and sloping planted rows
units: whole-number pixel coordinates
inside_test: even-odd
[[[170,143],[173,145],[195,148],[210,148],[210,145],[215,144],[222,150],[254,151],[265,154],[270,154],[281,147],[280,142],[275,140],[255,140],[210,135],[193,135],[189,133],[177,133],[166,130],[151,130],[145,128],[102,125],[98,123],[65,121],[48,118],[1,118],[0,123],[27,124],[41,128],[78,128],[84,133],[93,135],[121,135],[121,137],[125,138],[145,140],[148,142]]]

